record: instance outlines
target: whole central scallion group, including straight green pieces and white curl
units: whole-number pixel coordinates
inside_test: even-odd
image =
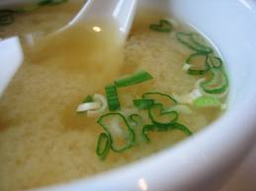
[[[153,77],[144,70],[135,72],[105,87],[107,101],[97,102],[95,96],[86,96],[83,103],[78,105],[77,112],[86,111],[88,116],[88,112],[93,112],[93,109],[102,111],[97,107],[104,104],[99,104],[99,102],[108,102],[110,112],[101,115],[97,120],[104,130],[97,142],[96,154],[99,159],[106,159],[110,151],[123,153],[141,142],[149,142],[148,132],[150,131],[164,132],[179,129],[186,135],[192,135],[189,128],[178,123],[179,111],[176,109],[178,102],[172,96],[151,92],[144,93],[140,98],[132,99],[138,112],[144,111],[145,115],[132,113],[126,116],[120,111],[118,90],[152,79]]]

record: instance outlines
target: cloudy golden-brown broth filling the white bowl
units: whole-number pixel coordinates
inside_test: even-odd
[[[206,51],[213,47],[206,39],[196,40],[199,34],[188,26],[167,19],[158,23],[169,18],[168,15],[144,10],[136,16],[125,45],[120,42],[112,24],[100,26],[101,32],[88,30],[93,27],[89,25],[86,29],[78,26],[64,34],[45,37],[45,33],[67,24],[81,4],[45,6],[18,15],[9,26],[0,26],[1,38],[20,35],[25,53],[24,63],[0,97],[0,190],[14,191],[66,182],[144,158],[195,134],[223,112],[227,83],[223,84],[226,77],[223,66],[220,66],[223,74],[220,80],[217,79],[221,60],[214,51]],[[192,33],[195,38],[190,38]],[[28,36],[35,41],[32,43]],[[196,49],[186,40],[186,43],[177,40],[177,36],[198,42],[194,44]],[[202,62],[207,69],[198,69]],[[196,69],[189,74],[192,65]],[[115,136],[119,134],[114,132],[108,155],[99,159],[97,140],[102,132],[106,133],[106,129],[97,123],[102,114],[88,117],[86,112],[76,112],[76,108],[85,96],[105,96],[106,86],[136,71],[144,71],[152,79],[118,88],[121,109],[105,109],[102,114],[121,113],[126,121],[130,114],[136,114],[144,122],[132,130],[132,144],[114,145]],[[203,88],[222,89],[211,93],[206,88],[208,93],[202,94],[197,86],[200,79],[212,83],[202,85]],[[219,84],[222,87],[219,88]],[[178,113],[178,119],[173,120],[171,116],[171,120],[181,124],[180,129],[162,125],[165,123],[162,121],[157,126],[151,121],[152,117],[148,118],[153,107],[142,109],[134,105],[133,99],[141,100],[145,93],[161,93],[175,99],[175,108],[162,112],[156,106],[152,115],[157,121],[158,118],[165,121],[167,115]],[[158,106],[166,105],[168,101],[163,100]],[[177,112],[170,114],[173,110]],[[128,123],[132,126],[132,121]],[[144,125],[149,123],[154,125],[143,131]],[[115,148],[126,148],[122,144],[129,147],[115,152]]]

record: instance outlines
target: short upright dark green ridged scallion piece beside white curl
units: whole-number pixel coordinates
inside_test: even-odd
[[[117,87],[115,85],[109,85],[105,87],[105,92],[108,100],[109,110],[115,111],[120,109],[120,101]]]

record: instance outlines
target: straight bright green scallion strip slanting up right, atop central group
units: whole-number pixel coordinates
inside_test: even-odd
[[[136,85],[151,79],[153,79],[153,77],[148,72],[141,70],[141,71],[135,72],[134,74],[130,74],[124,78],[115,80],[115,85],[118,88],[128,87],[128,86]]]

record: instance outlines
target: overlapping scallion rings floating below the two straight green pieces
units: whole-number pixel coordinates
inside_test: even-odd
[[[162,98],[167,98],[169,102],[161,102]],[[106,152],[110,150],[116,153],[127,151],[139,144],[136,140],[150,142],[148,133],[151,131],[165,132],[177,129],[188,136],[192,135],[188,127],[178,122],[179,112],[175,108],[170,109],[177,104],[172,96],[162,93],[145,93],[141,98],[132,101],[138,110],[146,110],[147,116],[132,113],[127,117],[121,112],[110,112],[100,116],[97,120],[98,124],[105,130],[104,133],[100,134],[96,150],[100,159],[105,159]],[[106,148],[102,150],[106,152],[100,153],[98,151],[99,148],[102,148],[103,134]]]

